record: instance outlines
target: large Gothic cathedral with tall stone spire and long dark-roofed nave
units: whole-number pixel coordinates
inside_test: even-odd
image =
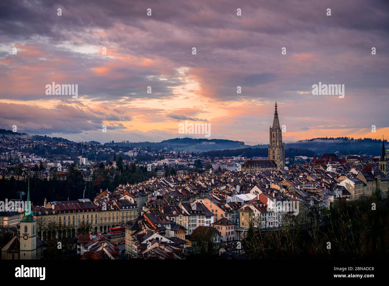
[[[273,126],[269,130],[268,160],[246,160],[242,171],[266,170],[285,167],[285,143],[282,142],[282,130],[278,119],[277,102],[275,103]]]

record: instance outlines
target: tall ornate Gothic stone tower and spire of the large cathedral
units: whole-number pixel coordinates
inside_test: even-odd
[[[282,130],[278,120],[277,102],[275,103],[273,126],[270,126],[269,160],[273,160],[277,167],[285,167],[285,143],[282,142]]]

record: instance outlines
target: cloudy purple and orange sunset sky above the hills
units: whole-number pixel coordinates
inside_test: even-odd
[[[0,128],[266,144],[277,101],[285,142],[389,136],[389,1],[90,3],[0,2]],[[77,98],[47,95],[52,82],[77,84]],[[313,95],[319,82],[344,97]],[[180,134],[186,120],[210,137]]]

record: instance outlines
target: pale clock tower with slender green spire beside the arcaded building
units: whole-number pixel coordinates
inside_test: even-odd
[[[34,218],[30,201],[30,178],[28,179],[27,205],[20,221],[19,259],[37,259],[37,220]]]

